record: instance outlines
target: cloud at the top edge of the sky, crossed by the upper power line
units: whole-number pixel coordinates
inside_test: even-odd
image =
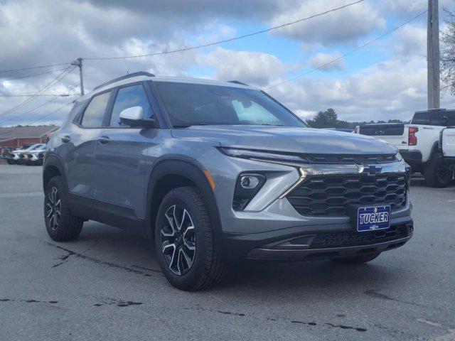
[[[272,19],[272,26],[306,18],[345,4],[346,1],[343,0],[303,1],[299,6],[289,6],[277,13]],[[358,39],[384,26],[385,20],[378,10],[368,2],[362,2],[281,28],[274,31],[274,34],[298,39],[303,43],[333,46],[341,43],[355,44]]]

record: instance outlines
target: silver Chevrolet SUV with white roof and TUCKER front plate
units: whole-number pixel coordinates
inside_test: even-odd
[[[48,143],[50,237],[96,220],[154,241],[194,291],[241,259],[359,263],[412,236],[410,170],[378,139],[309,128],[241,82],[137,72],[77,99]]]

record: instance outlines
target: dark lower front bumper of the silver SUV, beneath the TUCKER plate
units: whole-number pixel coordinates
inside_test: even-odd
[[[395,221],[389,229],[356,232],[352,225],[295,227],[284,231],[242,234],[223,238],[223,250],[239,258],[314,260],[355,256],[402,247],[414,232],[410,217]]]

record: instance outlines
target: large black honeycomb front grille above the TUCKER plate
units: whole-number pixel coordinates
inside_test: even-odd
[[[406,205],[405,174],[309,175],[287,195],[301,215],[340,216],[348,205]]]

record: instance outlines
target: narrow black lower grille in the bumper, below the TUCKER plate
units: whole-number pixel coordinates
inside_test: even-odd
[[[392,226],[388,229],[379,231],[366,231],[366,232],[327,232],[323,234],[316,234],[313,242],[311,242],[310,249],[326,249],[329,247],[355,247],[359,245],[378,244],[382,242],[389,242],[395,239],[409,237],[412,234],[412,225],[398,225]]]

